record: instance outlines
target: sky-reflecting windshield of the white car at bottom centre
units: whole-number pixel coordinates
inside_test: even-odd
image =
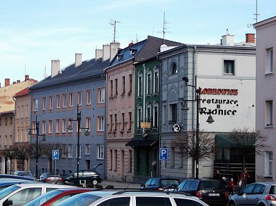
[[[101,197],[92,195],[92,194],[82,193],[82,194],[77,194],[75,196],[72,196],[66,200],[63,200],[57,206],[68,206],[68,205],[87,206],[87,205],[90,205],[90,203],[95,202],[99,198]]]

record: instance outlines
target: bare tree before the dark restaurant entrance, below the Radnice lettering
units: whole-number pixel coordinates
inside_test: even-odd
[[[262,135],[260,131],[250,132],[248,128],[234,129],[229,138],[232,147],[235,147],[242,155],[243,167],[245,167],[247,155],[261,154],[268,147],[267,136]]]

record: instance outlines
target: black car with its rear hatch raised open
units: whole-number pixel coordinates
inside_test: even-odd
[[[95,169],[102,164],[103,163],[98,163],[93,169],[80,169],[79,181],[81,183],[85,182],[86,185],[98,185],[99,183],[101,183],[101,176]],[[65,176],[63,180],[68,185],[79,185],[79,183],[77,183],[77,171],[72,172],[68,176]]]

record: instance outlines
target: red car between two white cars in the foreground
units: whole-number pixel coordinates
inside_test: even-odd
[[[50,192],[47,192],[46,194],[43,194],[41,196],[38,196],[37,198],[34,198],[32,201],[27,203],[24,206],[34,206],[34,205],[40,205],[40,206],[50,206],[52,203],[55,203],[55,205],[62,200],[65,200],[66,198],[70,198],[71,196],[74,196],[75,194],[83,193],[83,192],[91,192],[95,189],[92,188],[64,188],[64,189],[55,189]]]

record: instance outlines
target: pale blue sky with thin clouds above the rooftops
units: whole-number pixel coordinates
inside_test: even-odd
[[[114,38],[128,43],[150,36],[181,43],[220,43],[221,36],[245,41],[253,23],[276,16],[275,0],[0,0],[0,83],[5,79],[41,81],[51,60],[61,69],[95,58]]]

